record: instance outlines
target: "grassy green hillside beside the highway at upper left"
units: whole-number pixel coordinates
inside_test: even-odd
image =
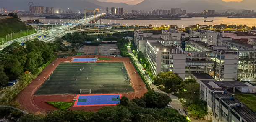
[[[13,33],[13,39],[19,38],[19,32],[21,32],[21,37],[26,36],[26,31],[28,30],[28,34],[32,34],[32,27],[30,25],[26,25],[25,23],[18,20],[18,18],[8,17],[6,19],[0,20],[0,39],[3,38],[4,41],[6,41],[6,35],[8,38],[8,41],[11,39],[11,33]],[[36,31],[34,31],[35,33]],[[2,42],[0,42],[2,43]]]

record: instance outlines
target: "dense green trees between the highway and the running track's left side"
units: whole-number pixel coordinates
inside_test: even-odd
[[[19,78],[26,71],[39,74],[43,64],[55,58],[58,46],[54,43],[44,43],[37,39],[26,41],[24,45],[14,42],[0,51],[0,86],[6,86],[8,81]]]

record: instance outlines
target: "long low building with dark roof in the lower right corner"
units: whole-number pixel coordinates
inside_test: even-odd
[[[197,74],[201,77],[201,74]],[[207,103],[205,119],[211,122],[255,122],[254,112],[229,91],[254,93],[255,85],[241,81],[200,80],[200,99]],[[227,89],[230,89],[227,91]],[[241,94],[240,93],[240,94]]]

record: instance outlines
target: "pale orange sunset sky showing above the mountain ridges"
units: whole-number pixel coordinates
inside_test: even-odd
[[[98,1],[113,2],[113,3],[126,3],[126,4],[129,4],[129,5],[136,5],[138,3],[141,3],[144,0],[98,0]],[[222,1],[225,1],[225,2],[240,2],[240,1],[243,1],[243,0],[222,0]]]

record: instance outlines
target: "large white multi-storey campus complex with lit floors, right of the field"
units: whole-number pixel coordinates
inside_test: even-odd
[[[138,51],[151,64],[152,74],[173,71],[185,78],[207,73],[217,81],[256,77],[256,46],[211,30],[162,30],[161,34],[134,31]]]

